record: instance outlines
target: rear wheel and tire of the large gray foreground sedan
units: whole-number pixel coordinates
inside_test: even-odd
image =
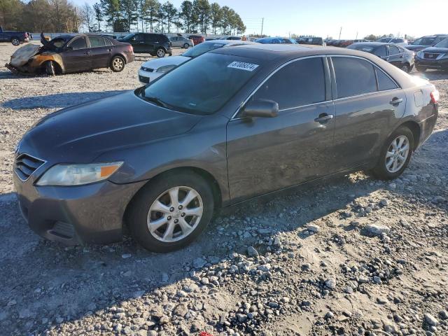
[[[379,162],[372,174],[382,180],[397,178],[409,164],[413,149],[414,134],[407,127],[398,127],[381,148]]]

